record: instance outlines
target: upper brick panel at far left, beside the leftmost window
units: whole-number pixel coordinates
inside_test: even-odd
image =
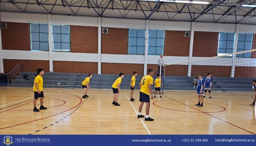
[[[30,51],[29,23],[2,22],[7,29],[1,29],[3,50]]]

